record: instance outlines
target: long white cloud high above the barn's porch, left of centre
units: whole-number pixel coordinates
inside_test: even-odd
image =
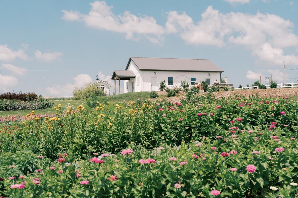
[[[165,32],[164,28],[156,23],[153,17],[142,15],[136,16],[129,11],[124,11],[123,14],[115,15],[112,12],[113,6],[108,6],[104,1],[94,1],[90,3],[91,10],[84,15],[78,11],[62,10],[64,15],[62,19],[67,21],[82,21],[87,26],[108,30],[113,32],[125,33],[126,39],[135,39],[135,35],[155,36],[154,39],[149,39],[153,42],[160,41],[161,35]]]

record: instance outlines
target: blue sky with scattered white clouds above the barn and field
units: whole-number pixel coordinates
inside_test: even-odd
[[[297,11],[294,0],[2,0],[0,92],[71,96],[97,75],[112,84],[130,56],[209,59],[234,87],[282,83],[285,60],[298,82]]]

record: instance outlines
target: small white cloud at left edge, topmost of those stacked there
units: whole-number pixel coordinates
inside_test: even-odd
[[[0,61],[8,62],[14,60],[15,58],[27,60],[28,56],[22,49],[13,51],[12,49],[8,48],[7,45],[0,45]]]

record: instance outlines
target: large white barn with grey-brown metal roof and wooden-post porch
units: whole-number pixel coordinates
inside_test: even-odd
[[[125,70],[115,70],[112,80],[124,80],[124,93],[158,91],[165,80],[167,87],[179,87],[186,80],[193,85],[206,80],[211,85],[220,81],[222,69],[206,59],[130,57]],[[116,93],[116,91],[115,91]]]

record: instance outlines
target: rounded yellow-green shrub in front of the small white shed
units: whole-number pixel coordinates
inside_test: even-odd
[[[75,100],[84,99],[91,97],[92,95],[95,96],[103,96],[104,93],[102,92],[101,88],[97,88],[96,86],[92,86],[93,83],[88,83],[85,87],[78,88],[75,87],[73,90],[73,95]]]

